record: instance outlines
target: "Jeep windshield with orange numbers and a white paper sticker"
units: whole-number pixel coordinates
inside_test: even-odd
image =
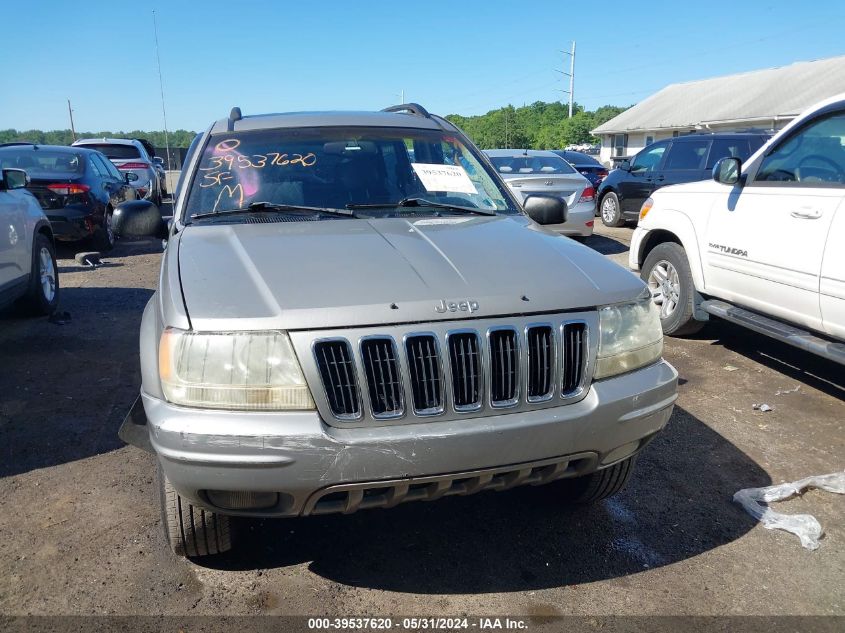
[[[185,217],[231,221],[295,209],[322,211],[319,219],[519,213],[476,150],[444,131],[313,127],[210,137]]]

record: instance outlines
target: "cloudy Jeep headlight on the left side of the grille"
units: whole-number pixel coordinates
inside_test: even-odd
[[[158,357],[164,397],[208,409],[314,409],[284,332],[187,332],[168,328]]]

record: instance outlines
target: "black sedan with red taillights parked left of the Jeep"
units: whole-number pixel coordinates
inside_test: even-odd
[[[98,251],[114,246],[112,210],[137,197],[128,180],[133,174],[124,176],[103,154],[83,147],[6,145],[0,147],[0,166],[26,171],[26,188],[56,240],[88,240]]]

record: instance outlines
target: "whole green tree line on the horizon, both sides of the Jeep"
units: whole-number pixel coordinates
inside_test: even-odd
[[[561,149],[567,145],[597,143],[590,134],[605,121],[627,108],[602,106],[587,112],[575,104],[569,118],[569,106],[555,101],[535,101],[531,105],[515,108],[508,105],[487,114],[461,116],[450,114],[446,118],[460,127],[482,149],[518,147],[528,149]],[[170,147],[188,147],[196,132],[175,130],[168,133]],[[80,132],[77,138],[144,138],[154,147],[164,147],[164,131],[133,130],[132,132]],[[70,130],[0,130],[0,143],[28,141],[39,145],[70,145]]]

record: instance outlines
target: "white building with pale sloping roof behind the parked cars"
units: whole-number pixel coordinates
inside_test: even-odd
[[[601,160],[696,132],[777,130],[814,103],[845,92],[845,56],[666,86],[592,130]]]

